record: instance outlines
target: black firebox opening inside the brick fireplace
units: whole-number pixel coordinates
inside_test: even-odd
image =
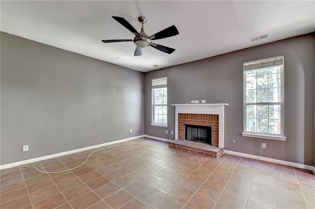
[[[211,145],[211,126],[195,126],[185,124],[185,139]]]

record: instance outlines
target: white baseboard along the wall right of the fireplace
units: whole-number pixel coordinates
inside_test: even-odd
[[[253,159],[260,159],[260,160],[267,161],[267,162],[274,162],[274,163],[278,163],[278,164],[289,165],[289,166],[296,167],[296,168],[303,168],[303,169],[307,169],[307,170],[312,170],[313,173],[315,173],[315,167],[311,166],[311,165],[304,165],[304,164],[300,164],[300,163],[296,163],[296,162],[289,162],[289,161],[284,161],[284,160],[280,160],[280,159],[273,159],[273,158],[269,158],[269,157],[254,156],[254,155],[250,155],[250,154],[246,154],[246,153],[238,153],[238,152],[229,151],[229,150],[224,150],[224,153],[229,154],[229,155],[234,155],[234,156],[248,157],[248,158],[253,158]]]

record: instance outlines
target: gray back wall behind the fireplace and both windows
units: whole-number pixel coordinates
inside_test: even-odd
[[[261,156],[313,164],[315,36],[303,35],[230,52],[145,74],[145,134],[169,138],[152,127],[151,79],[167,77],[168,104],[191,100],[228,103],[224,149],[260,156],[260,139],[243,137],[243,62],[284,55],[284,132],[286,141],[262,139]],[[175,52],[176,53],[176,52]],[[168,106],[168,132],[174,131],[175,107]],[[235,140],[236,143],[231,143]]]

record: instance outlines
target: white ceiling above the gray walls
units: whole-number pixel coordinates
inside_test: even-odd
[[[1,31],[148,72],[218,54],[315,31],[315,1],[0,1]],[[152,47],[133,56],[133,39],[111,18],[125,18],[140,31],[138,16],[152,35],[175,25],[179,35],[155,40],[176,49],[172,54]],[[249,38],[269,33],[250,43]],[[158,67],[153,67],[158,65]]]

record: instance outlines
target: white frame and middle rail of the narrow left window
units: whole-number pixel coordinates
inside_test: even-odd
[[[156,81],[156,82],[155,82]],[[165,88],[166,89],[166,104],[155,104],[155,89]],[[167,108],[167,101],[168,101],[168,95],[167,95],[167,77],[163,78],[155,78],[152,79],[152,110],[151,110],[151,126],[153,127],[168,127],[168,108]],[[155,123],[155,107],[156,106],[165,106],[166,107],[166,123]],[[165,115],[165,114],[164,114]]]

